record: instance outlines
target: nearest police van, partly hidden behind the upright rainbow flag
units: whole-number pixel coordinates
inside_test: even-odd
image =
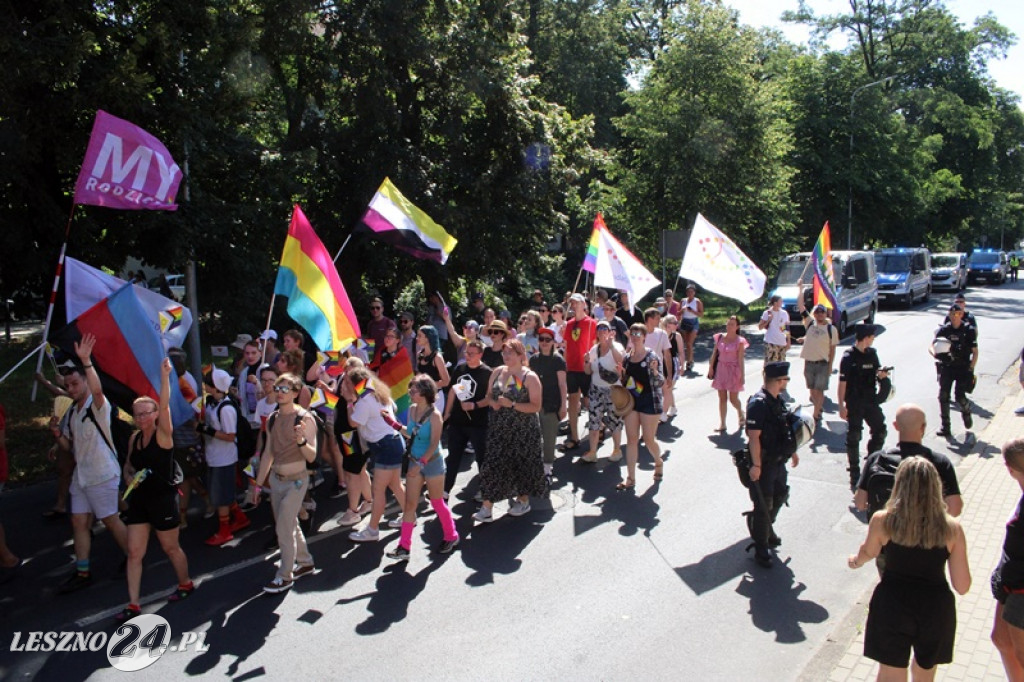
[[[839,310],[831,313],[833,324],[840,336],[861,319],[874,322],[879,309],[878,281],[874,272],[874,255],[870,251],[833,251],[833,275],[836,278],[836,300]],[[804,325],[797,306],[797,281],[804,280],[804,305],[808,312],[814,297],[811,271],[811,254],[795,253],[784,256],[778,264],[772,295],[782,297],[782,305],[790,313],[790,334],[803,336]]]

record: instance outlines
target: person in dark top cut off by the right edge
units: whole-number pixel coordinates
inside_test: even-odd
[[[1002,445],[1002,461],[1010,477],[1024,491],[1024,438]],[[1024,682],[1024,496],[1007,521],[1002,555],[992,572],[995,623],[992,643],[1002,656],[1011,682]]]

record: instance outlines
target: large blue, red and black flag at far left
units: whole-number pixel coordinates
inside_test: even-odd
[[[51,342],[75,356],[75,343],[86,334],[96,337],[92,361],[103,385],[103,394],[122,410],[131,411],[140,395],[160,399],[160,366],[165,351],[160,335],[148,323],[135,296],[135,287],[126,284],[114,294],[78,315],[51,336]],[[181,394],[178,382],[171,382],[171,418],[178,426],[195,416]]]

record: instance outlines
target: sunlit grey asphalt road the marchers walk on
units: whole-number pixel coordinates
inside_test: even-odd
[[[999,379],[1024,338],[1022,290],[1024,285],[1007,285],[968,292],[981,335],[975,433],[1016,390]],[[897,395],[885,406],[890,422],[899,403],[914,401],[925,408],[930,428],[938,426],[937,384],[926,349],[950,298],[884,309],[878,317],[885,331],[876,346],[882,361],[896,367]],[[759,384],[762,361],[760,335],[749,338],[746,394]],[[701,373],[709,343],[701,339]],[[798,349],[790,359],[791,392],[806,402]],[[432,514],[417,527],[412,560],[392,564],[384,552],[397,542],[396,530],[383,532],[380,543],[354,545],[332,520],[343,505],[325,499],[311,545],[317,574],[289,593],[263,596],[260,588],[274,570],[273,558],[262,551],[271,534],[268,507],[254,514],[236,543],[219,549],[202,544],[212,522],[195,518],[182,544],[199,589],[179,604],[157,598],[174,580],[154,542],[143,611],[166,617],[174,641],[184,631],[205,632],[209,650],[168,651],[145,675],[797,679],[876,578],[846,567],[864,525],[849,508],[845,423],[830,402],[824,426],[791,472],[791,507],[776,526],[783,539],[779,561],[765,570],[743,551],[741,513],[750,502],[729,457],[742,440],[735,430],[712,431],[718,401],[710,383],[694,376],[677,385],[680,416],[659,431],[665,480],[652,481],[650,458],[642,451],[635,494],[614,491],[624,465],[604,459],[605,444],[596,465],[560,459],[551,500],[536,502],[530,514],[505,517],[499,505],[494,523],[474,528],[476,483],[472,472],[464,473],[464,499],[453,499],[463,543],[447,557],[427,551],[440,540]],[[834,377],[831,396],[835,383]],[[730,415],[730,426],[734,420]],[[955,412],[953,427],[955,441],[927,444],[958,461],[968,449]],[[894,440],[890,433],[888,444]],[[113,633],[110,616],[126,600],[113,543],[102,532],[94,543],[96,585],[55,594],[71,568],[71,550],[67,524],[39,517],[51,500],[51,483],[0,497],[8,542],[29,559],[14,582],[0,586],[0,677],[114,679],[121,673],[104,651],[9,650],[14,631],[23,638],[30,631]],[[974,589],[985,589],[982,579],[976,577]]]

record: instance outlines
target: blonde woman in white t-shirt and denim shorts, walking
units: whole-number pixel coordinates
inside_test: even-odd
[[[348,403],[348,422],[356,427],[374,458],[373,509],[370,523],[348,539],[356,543],[380,540],[380,522],[384,516],[387,489],[394,493],[398,506],[404,509],[406,488],[401,484],[401,458],[406,443],[398,435],[399,424],[394,418],[391,389],[365,367],[353,367],[341,382],[341,394]],[[401,521],[396,523],[400,527]]]

